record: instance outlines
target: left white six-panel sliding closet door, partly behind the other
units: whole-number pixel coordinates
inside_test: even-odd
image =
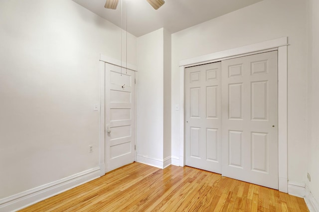
[[[221,63],[185,68],[185,163],[221,173]]]

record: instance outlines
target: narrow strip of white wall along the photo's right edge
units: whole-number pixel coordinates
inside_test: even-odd
[[[309,0],[308,24],[308,160],[307,185],[319,204],[319,1]]]

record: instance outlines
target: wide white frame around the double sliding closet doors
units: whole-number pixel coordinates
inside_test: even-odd
[[[179,166],[185,166],[185,68],[278,50],[278,190],[288,193],[288,45],[288,37],[281,37],[179,61]]]

